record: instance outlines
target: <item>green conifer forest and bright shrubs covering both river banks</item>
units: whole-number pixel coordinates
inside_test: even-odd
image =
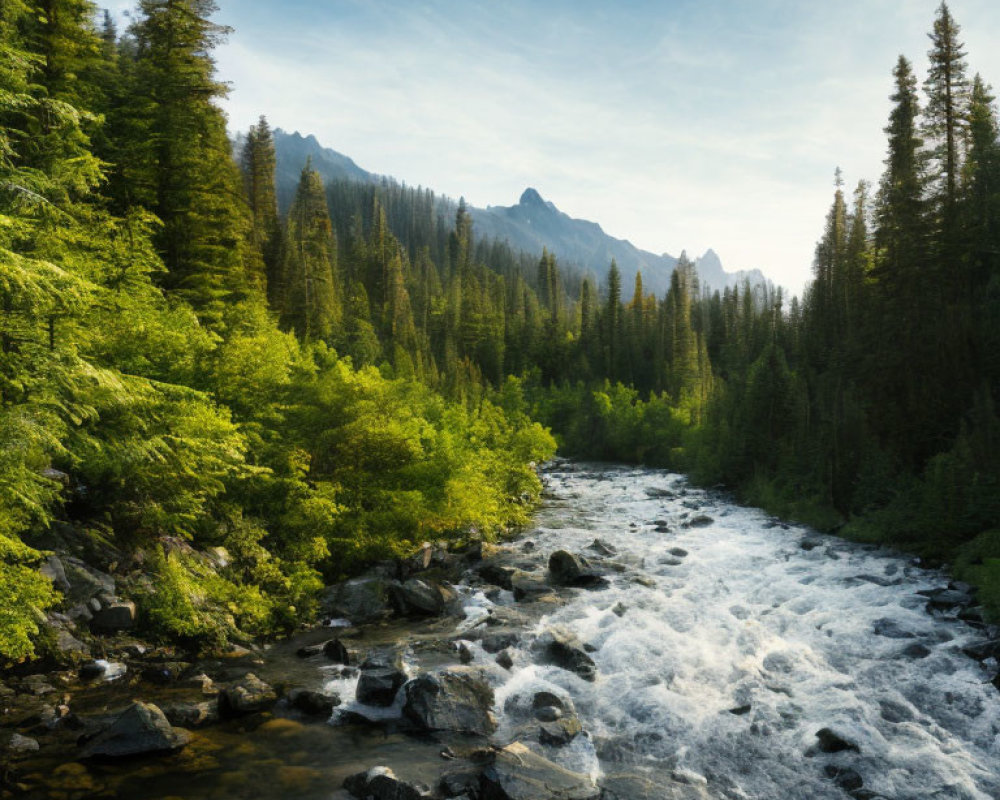
[[[49,646],[56,547],[151,636],[273,635],[366,564],[525,524],[557,442],[948,562],[1000,613],[1000,130],[946,5],[791,299],[684,255],[663,297],[598,285],[309,164],[279,214],[215,11],[0,7],[0,657]]]

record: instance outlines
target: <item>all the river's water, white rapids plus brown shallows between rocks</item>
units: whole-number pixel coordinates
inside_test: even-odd
[[[593,559],[610,586],[518,603],[473,581],[463,588],[467,618],[457,631],[452,622],[394,623],[356,645],[399,641],[416,672],[456,663],[454,639],[464,636],[494,685],[495,739],[517,735],[507,712],[518,698],[568,696],[586,733],[544,754],[599,782],[630,771],[686,787],[683,797],[847,798],[831,775],[840,769],[863,780],[856,798],[1000,798],[1000,694],[990,684],[997,665],[961,652],[982,631],[925,610],[919,592],[945,586],[944,574],[777,524],[665,472],[561,463],[546,483],[535,525],[508,559],[543,577],[551,552],[588,553],[600,538],[617,551]],[[477,626],[497,606],[526,612],[511,670],[477,641]],[[536,663],[531,642],[552,626],[593,650],[594,682]],[[325,663],[296,659],[301,643],[270,648],[256,671],[337,690],[344,708],[369,717],[398,715],[398,702],[388,710],[351,703],[357,679],[331,679]],[[67,788],[89,781],[106,792],[99,796],[305,800],[345,796],[337,792],[344,776],[375,764],[433,784],[450,742],[391,724],[338,725],[340,711],[330,724],[284,716],[279,706],[263,724],[199,731],[173,764],[60,769]],[[856,750],[819,752],[824,728]]]

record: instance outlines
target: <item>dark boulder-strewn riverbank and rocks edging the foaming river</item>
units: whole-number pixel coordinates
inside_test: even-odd
[[[642,521],[650,535],[715,523],[704,493],[647,487],[645,496],[676,507]],[[629,525],[640,530],[639,522]],[[609,587],[623,597],[653,592],[657,574],[684,568],[689,551],[673,544],[655,558],[639,558],[595,533],[583,546],[577,537],[567,550],[539,545],[530,533],[460,552],[427,545],[410,559],[330,587],[323,624],[208,658],[151,647],[127,626],[91,626],[87,643],[80,642],[91,657],[79,667],[10,674],[0,684],[3,796],[729,796],[684,769],[651,772],[641,761],[615,758],[607,743],[596,757],[578,703],[582,687],[606,680],[598,658],[609,645],[552,620],[566,603],[592,596],[608,606],[602,624],[613,626],[633,610],[625,600],[612,602]],[[829,538],[803,536],[800,550],[811,557]],[[82,568],[70,562],[69,572]],[[90,577],[100,609],[83,605],[91,613],[117,608],[113,586]],[[75,580],[66,575],[70,589]],[[981,636],[965,652],[995,667],[1000,637],[977,619],[968,587],[920,591],[926,613],[979,627]],[[124,612],[114,613],[125,621]],[[875,629],[906,645],[906,658],[931,655],[893,619],[876,620]],[[562,688],[517,680],[536,669],[555,669],[567,680]],[[734,703],[728,713],[741,717],[751,708]],[[803,757],[840,754],[826,765],[830,785],[858,800],[880,796],[843,761],[860,751],[857,737],[833,723],[815,727]]]

